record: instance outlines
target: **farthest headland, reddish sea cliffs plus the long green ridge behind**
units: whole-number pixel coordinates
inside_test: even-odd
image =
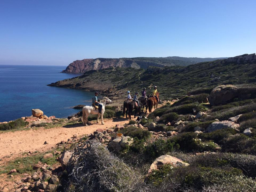
[[[84,73],[90,70],[100,70],[109,67],[122,68],[143,68],[150,66],[164,67],[164,66],[188,66],[199,62],[213,61],[225,58],[186,58],[186,57],[134,57],[134,58],[97,58],[76,60],[68,65],[63,70],[63,73]]]

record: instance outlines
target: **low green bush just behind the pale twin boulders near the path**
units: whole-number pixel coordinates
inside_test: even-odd
[[[120,130],[124,136],[130,136],[132,138],[137,137],[138,139],[147,139],[150,137],[151,133],[147,130],[143,130],[139,127],[130,126]]]

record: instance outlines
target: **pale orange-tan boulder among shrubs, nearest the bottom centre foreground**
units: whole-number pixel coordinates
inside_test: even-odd
[[[156,160],[151,164],[148,173],[151,173],[153,170],[158,169],[164,164],[171,164],[173,167],[189,165],[188,163],[184,163],[181,159],[178,159],[174,156],[162,155],[160,157],[157,157]]]

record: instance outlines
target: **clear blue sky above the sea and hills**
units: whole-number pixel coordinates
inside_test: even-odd
[[[255,0],[1,0],[0,64],[256,52]]]

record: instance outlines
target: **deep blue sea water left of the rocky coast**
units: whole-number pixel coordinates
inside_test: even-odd
[[[78,74],[60,73],[66,66],[0,65],[0,122],[31,116],[32,108],[47,116],[67,117],[91,104],[93,92],[46,86]]]

